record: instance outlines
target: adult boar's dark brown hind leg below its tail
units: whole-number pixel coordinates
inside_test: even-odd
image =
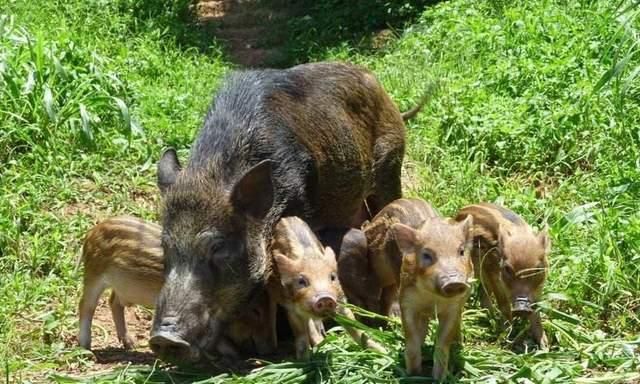
[[[387,135],[375,144],[373,165],[374,194],[367,198],[371,216],[375,216],[390,202],[402,197],[400,175],[404,157],[404,135]]]

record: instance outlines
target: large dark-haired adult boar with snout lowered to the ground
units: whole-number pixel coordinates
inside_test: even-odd
[[[281,217],[314,229],[359,226],[363,201],[375,214],[399,198],[404,142],[402,115],[362,68],[232,74],[186,167],[173,150],[158,164],[166,283],[152,349],[182,360],[213,343],[264,289]]]

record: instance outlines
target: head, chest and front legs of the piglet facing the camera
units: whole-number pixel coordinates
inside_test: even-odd
[[[449,351],[460,342],[462,311],[473,277],[472,221],[432,217],[417,229],[402,223],[391,227],[403,257],[400,308],[410,375],[422,372],[422,344],[433,318],[438,319],[438,331],[432,376],[441,380],[447,375]]]

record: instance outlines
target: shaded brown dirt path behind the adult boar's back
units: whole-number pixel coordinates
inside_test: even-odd
[[[244,67],[277,65],[285,57],[283,25],[291,0],[200,0],[198,21],[223,40],[232,61]]]

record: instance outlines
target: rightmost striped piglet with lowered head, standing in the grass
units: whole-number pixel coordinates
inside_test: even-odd
[[[504,318],[528,318],[531,335],[541,348],[547,337],[534,304],[544,286],[551,240],[546,230],[535,233],[514,212],[495,204],[464,207],[456,220],[474,219],[473,263],[482,289],[481,303],[493,312],[491,296]]]

